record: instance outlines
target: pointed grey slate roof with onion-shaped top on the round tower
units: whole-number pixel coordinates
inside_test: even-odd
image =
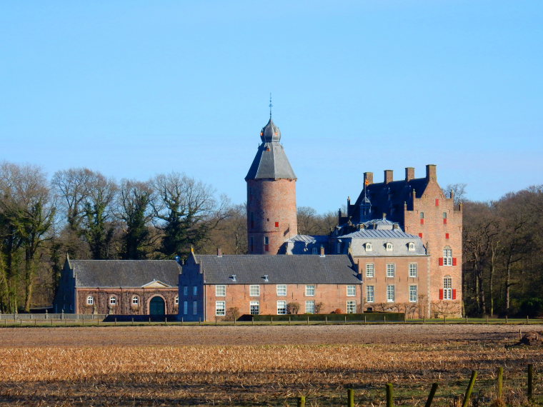
[[[271,119],[262,129],[260,138],[263,142],[256,151],[245,181],[249,179],[297,179],[289,159],[287,159],[287,154],[279,143],[281,131]]]

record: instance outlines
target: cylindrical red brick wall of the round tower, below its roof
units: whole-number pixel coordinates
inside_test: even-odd
[[[277,254],[284,241],[297,233],[296,180],[247,181],[249,254]],[[267,251],[265,237],[269,239]],[[251,238],[254,242],[252,250]]]

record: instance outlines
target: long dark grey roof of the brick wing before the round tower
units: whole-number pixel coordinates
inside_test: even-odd
[[[346,255],[195,255],[208,284],[357,284]],[[236,281],[231,278],[236,275]],[[264,281],[264,275],[269,281]],[[181,277],[182,278],[182,277]]]

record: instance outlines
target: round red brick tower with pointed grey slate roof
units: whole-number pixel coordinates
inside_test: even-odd
[[[269,118],[247,182],[249,254],[277,254],[284,241],[298,234],[296,175],[284,153],[281,131]]]

